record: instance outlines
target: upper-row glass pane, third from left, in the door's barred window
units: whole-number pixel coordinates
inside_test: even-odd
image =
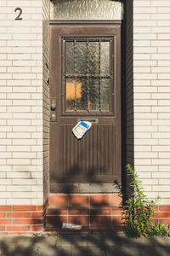
[[[99,43],[88,43],[88,73],[99,74]]]

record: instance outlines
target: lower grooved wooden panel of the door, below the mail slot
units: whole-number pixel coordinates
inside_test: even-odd
[[[59,150],[51,155],[52,183],[72,182],[81,177],[82,183],[95,180],[99,183],[116,177],[116,129],[115,125],[93,125],[82,140],[77,140],[71,132],[72,125],[61,125],[54,141]]]

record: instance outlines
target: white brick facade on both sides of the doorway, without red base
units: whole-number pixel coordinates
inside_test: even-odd
[[[23,20],[14,20],[16,7]],[[150,198],[161,195],[164,204],[170,203],[169,12],[168,0],[133,0],[134,165]],[[48,19],[49,0],[0,3],[1,205],[42,204],[42,172],[48,195]]]

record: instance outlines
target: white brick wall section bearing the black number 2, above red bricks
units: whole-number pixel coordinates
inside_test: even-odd
[[[0,3],[0,205],[42,205],[44,2]]]

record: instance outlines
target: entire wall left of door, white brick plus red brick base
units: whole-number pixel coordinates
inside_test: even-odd
[[[15,20],[17,7],[22,20]],[[43,191],[48,196],[49,1],[1,1],[0,14],[0,232],[41,231]]]

